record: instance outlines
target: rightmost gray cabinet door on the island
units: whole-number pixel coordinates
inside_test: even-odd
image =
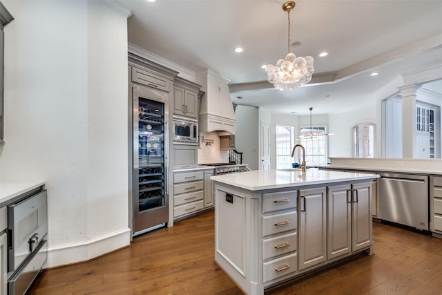
[[[372,184],[352,184],[352,251],[372,244]]]

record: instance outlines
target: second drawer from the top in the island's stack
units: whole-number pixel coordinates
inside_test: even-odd
[[[296,211],[273,214],[262,217],[262,234],[269,236],[296,229],[298,222]]]

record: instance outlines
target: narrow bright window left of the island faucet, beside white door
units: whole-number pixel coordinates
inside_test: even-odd
[[[291,168],[294,127],[276,125],[276,169]]]

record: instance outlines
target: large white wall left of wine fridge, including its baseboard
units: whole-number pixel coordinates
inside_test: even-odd
[[[48,267],[128,245],[126,16],[99,1],[5,1],[2,182],[48,189]]]

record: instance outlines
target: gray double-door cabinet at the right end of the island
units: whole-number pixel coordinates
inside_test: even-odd
[[[372,184],[327,187],[327,259],[372,244]]]

